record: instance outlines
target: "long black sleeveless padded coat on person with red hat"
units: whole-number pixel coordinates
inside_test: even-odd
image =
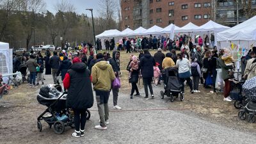
[[[93,91],[90,72],[84,63],[74,63],[67,71],[70,86],[67,95],[67,108],[88,109],[93,106]]]

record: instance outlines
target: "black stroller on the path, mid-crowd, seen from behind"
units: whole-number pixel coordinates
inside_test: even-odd
[[[180,95],[180,101],[184,100],[184,93],[181,91],[182,84],[179,81],[179,72],[177,68],[170,67],[162,70],[162,76],[164,79],[164,92],[160,92],[161,99],[164,99],[164,95],[171,98],[173,102],[174,97],[177,99]]]

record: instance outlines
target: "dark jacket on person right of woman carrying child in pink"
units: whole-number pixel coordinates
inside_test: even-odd
[[[156,65],[156,61],[154,60],[153,56],[150,54],[144,54],[139,64],[139,70],[141,69],[143,78],[154,77],[154,65]]]

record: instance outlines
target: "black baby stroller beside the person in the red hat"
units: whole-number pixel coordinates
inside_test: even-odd
[[[37,95],[38,102],[48,108],[37,118],[38,131],[42,131],[40,120],[47,122],[49,127],[54,127],[56,134],[62,134],[66,126],[74,128],[74,112],[66,108],[67,92],[62,92],[60,85],[48,84],[40,88]],[[47,116],[45,116],[47,114]],[[86,119],[90,119],[90,111],[86,109]]]

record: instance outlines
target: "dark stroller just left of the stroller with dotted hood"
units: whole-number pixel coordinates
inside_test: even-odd
[[[238,81],[237,79],[229,79],[229,81],[231,81],[230,98],[235,100],[234,107],[240,109],[248,103],[245,95],[243,95],[243,84],[245,81]]]

